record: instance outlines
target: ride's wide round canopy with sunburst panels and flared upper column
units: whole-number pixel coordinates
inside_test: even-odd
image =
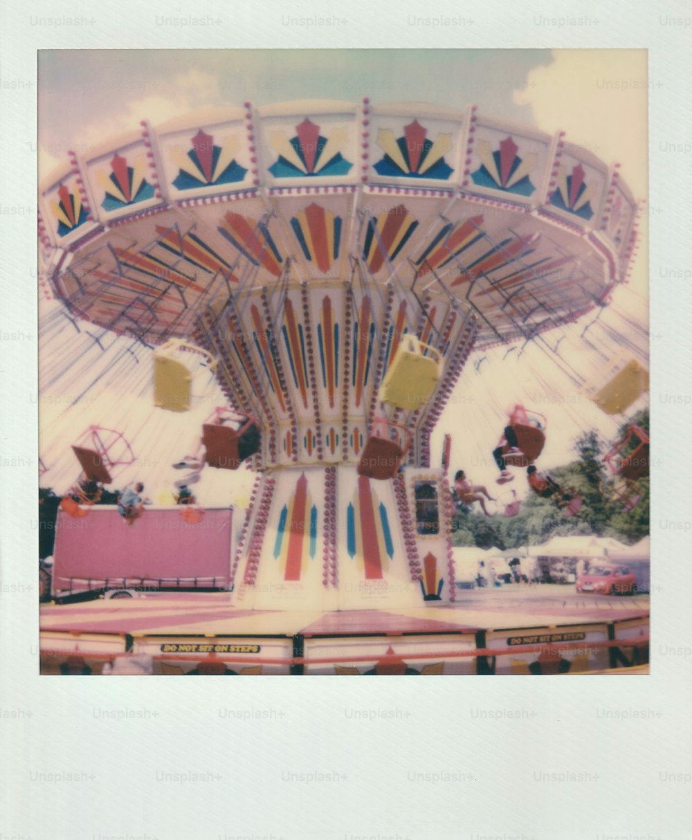
[[[562,133],[368,99],[143,122],[70,155],[39,201],[55,294],[144,343],[207,347],[269,432],[265,465],[357,460],[406,333],[443,360],[432,398],[390,417],[424,460],[471,347],[607,302],[637,224],[617,165]]]

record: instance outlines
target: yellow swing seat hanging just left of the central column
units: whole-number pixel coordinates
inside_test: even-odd
[[[162,344],[154,354],[154,405],[170,412],[186,412],[192,401],[193,373],[201,364],[213,372],[218,361],[207,350],[181,339]]]

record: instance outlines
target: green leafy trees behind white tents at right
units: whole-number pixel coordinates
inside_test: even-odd
[[[648,412],[639,412],[632,417],[632,423],[648,431]],[[629,425],[622,426],[620,435]],[[495,545],[499,549],[510,549],[545,543],[552,537],[569,534],[593,534],[613,537],[623,543],[637,543],[649,533],[648,479],[637,483],[642,501],[625,512],[623,502],[613,498],[613,477],[603,461],[610,446],[610,443],[600,441],[594,430],[583,433],[574,444],[577,459],[550,471],[564,489],[584,498],[581,510],[574,517],[565,517],[553,501],[534,494],[522,501],[522,509],[516,517],[498,515],[489,519],[481,512],[458,506],[452,523],[453,544],[477,545],[483,549]],[[522,481],[522,476],[517,474],[516,481]]]

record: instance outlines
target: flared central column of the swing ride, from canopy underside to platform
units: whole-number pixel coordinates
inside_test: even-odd
[[[254,609],[453,598],[451,508],[429,438],[474,341],[457,302],[396,286],[287,284],[204,320],[222,383],[262,430],[233,561]]]

